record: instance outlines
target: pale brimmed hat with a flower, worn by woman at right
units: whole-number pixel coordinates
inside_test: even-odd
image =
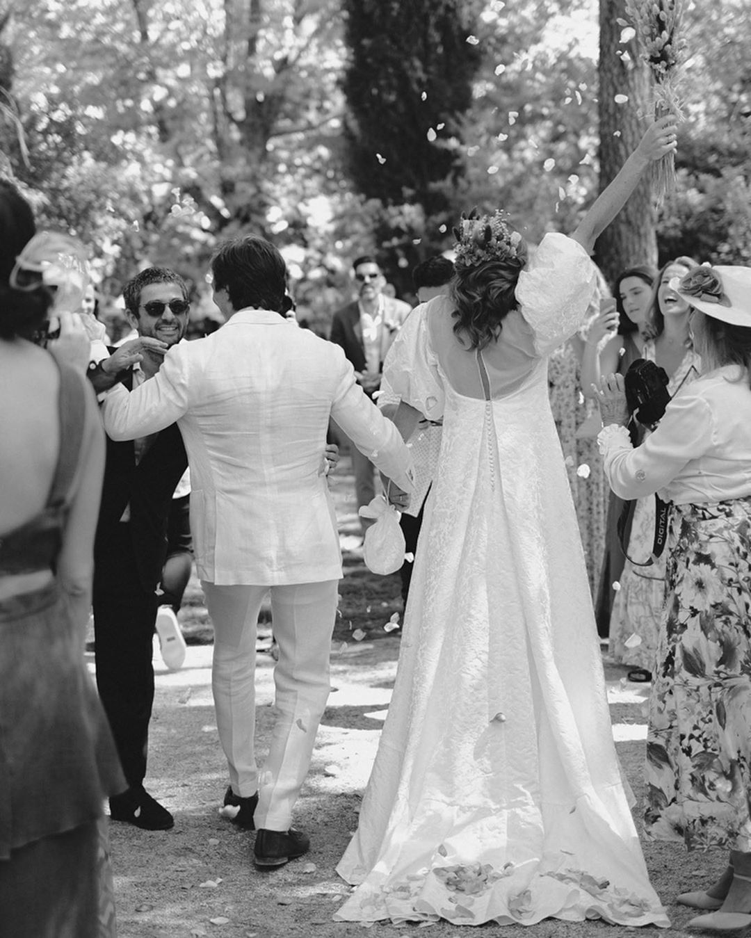
[[[702,265],[674,277],[670,289],[706,316],[751,327],[751,267]]]

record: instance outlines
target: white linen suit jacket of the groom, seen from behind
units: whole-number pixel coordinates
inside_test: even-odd
[[[239,310],[205,339],[173,346],[142,386],[115,386],[103,404],[113,440],[177,421],[198,575],[219,585],[341,577],[322,471],[329,416],[384,475],[413,491],[408,448],[356,384],[342,350],[276,312]]]

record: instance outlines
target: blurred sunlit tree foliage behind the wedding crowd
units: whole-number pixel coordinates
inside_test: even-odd
[[[678,189],[647,219],[658,256],[639,233],[622,266],[751,264],[747,0],[684,5]],[[412,266],[450,250],[473,204],[503,205],[533,241],[573,228],[601,158],[611,175],[604,138],[650,110],[633,88],[598,108],[600,84],[631,88],[643,68],[627,33],[602,28],[622,7],[0,0],[0,170],[42,223],[90,246],[105,297],[169,265],[211,313],[218,239],[259,233],[288,261],[298,317],[325,334],[354,256],[374,251],[411,299]]]

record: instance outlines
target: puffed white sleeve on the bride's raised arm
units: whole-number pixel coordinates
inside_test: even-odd
[[[548,233],[519,274],[517,299],[532,326],[537,355],[547,356],[583,324],[596,287],[587,252],[565,234]]]

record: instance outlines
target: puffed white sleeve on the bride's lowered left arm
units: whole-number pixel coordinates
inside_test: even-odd
[[[430,347],[427,309],[416,307],[399,329],[383,362],[383,384],[389,398],[411,404],[428,420],[440,420],[443,382]]]

